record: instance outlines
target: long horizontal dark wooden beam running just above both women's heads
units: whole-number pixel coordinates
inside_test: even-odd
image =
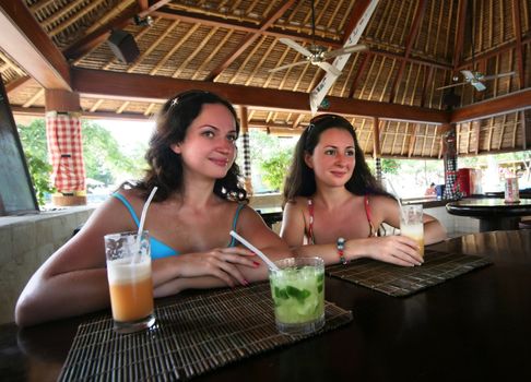
[[[309,112],[308,94],[272,88],[231,85],[204,81],[168,79],[167,76],[118,73],[90,69],[72,69],[73,87],[82,96],[139,102],[165,102],[176,93],[190,88],[217,93],[235,105],[272,110]],[[421,107],[378,102],[329,97],[329,112],[345,116],[378,117],[426,123],[448,122],[448,114]]]

